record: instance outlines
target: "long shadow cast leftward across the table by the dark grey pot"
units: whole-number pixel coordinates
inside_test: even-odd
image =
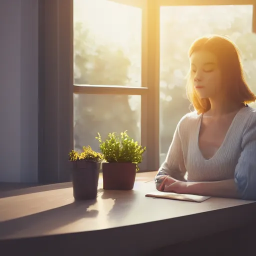
[[[32,233],[42,234],[50,230],[63,227],[81,218],[93,218],[98,210],[88,210],[96,203],[94,200],[73,201],[67,205],[31,215],[0,222],[0,238],[13,234],[19,235],[26,229]],[[68,227],[67,227],[68,231]],[[26,232],[29,235],[29,231]]]

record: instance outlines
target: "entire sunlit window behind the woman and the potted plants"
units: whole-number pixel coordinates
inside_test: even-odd
[[[150,153],[151,156],[152,153],[158,154],[157,163],[146,166],[147,169],[156,169],[166,157],[178,120],[189,111],[184,77],[189,65],[187,50],[194,39],[210,33],[228,35],[242,51],[249,84],[255,84],[253,5],[233,5],[231,0],[221,5],[210,1],[208,5],[201,5],[200,1],[155,0],[153,3],[148,0],[146,6],[141,4],[141,7],[134,7],[131,2],[74,0],[74,145],[81,149],[87,142],[96,149],[93,142],[96,131],[106,135],[108,132],[127,129],[131,136],[140,140],[141,135],[143,137],[150,129],[149,123],[157,123],[159,133],[157,130],[151,131],[154,136],[158,136],[157,143],[140,140],[141,143],[147,142],[147,148],[155,147],[154,152]],[[155,8],[154,12],[152,8]],[[153,23],[155,34],[159,33],[158,39],[148,34],[148,27]],[[144,55],[143,47],[148,47]],[[150,62],[155,60],[157,63],[157,50],[159,70],[157,64]],[[148,56],[151,51],[156,54],[154,59]],[[146,60],[143,62],[143,59]],[[147,71],[143,73],[143,69]],[[141,128],[139,118],[150,116],[149,106],[143,106],[141,96],[130,96],[128,90],[125,95],[118,95],[121,93],[118,87],[114,95],[97,94],[102,93],[102,86],[106,87],[107,93],[109,85],[146,89],[146,81],[151,78],[149,70],[154,73],[152,87],[157,88],[154,88],[156,93],[152,97],[159,95],[158,100],[154,101],[158,104],[159,112],[154,115],[156,119],[147,120]],[[98,84],[102,86],[91,87]],[[256,92],[256,87],[252,89]],[[83,94],[76,94],[77,90]],[[147,95],[148,91],[144,92]],[[137,92],[137,95],[142,94]],[[118,111],[122,109],[125,112],[126,122],[122,121],[125,118],[121,112],[117,114],[116,110],[115,115],[117,105],[120,106]],[[107,108],[104,107],[104,111],[100,112],[102,106]],[[137,117],[133,118],[134,115]]]

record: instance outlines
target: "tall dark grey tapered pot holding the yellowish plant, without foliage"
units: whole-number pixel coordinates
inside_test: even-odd
[[[97,197],[99,168],[100,162],[81,160],[73,163],[73,196],[76,200]]]

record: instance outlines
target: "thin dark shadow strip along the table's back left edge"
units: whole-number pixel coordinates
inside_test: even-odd
[[[25,186],[25,187],[22,187],[22,186]],[[71,186],[72,186],[72,182],[54,183],[54,184],[47,184],[47,185],[0,183],[0,198],[68,188]]]

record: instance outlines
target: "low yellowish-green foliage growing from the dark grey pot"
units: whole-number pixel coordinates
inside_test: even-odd
[[[92,150],[90,146],[83,146],[82,148],[83,148],[83,152],[81,153],[72,149],[68,153],[69,161],[87,160],[87,161],[98,162],[103,159],[103,155],[101,153],[98,153]]]

